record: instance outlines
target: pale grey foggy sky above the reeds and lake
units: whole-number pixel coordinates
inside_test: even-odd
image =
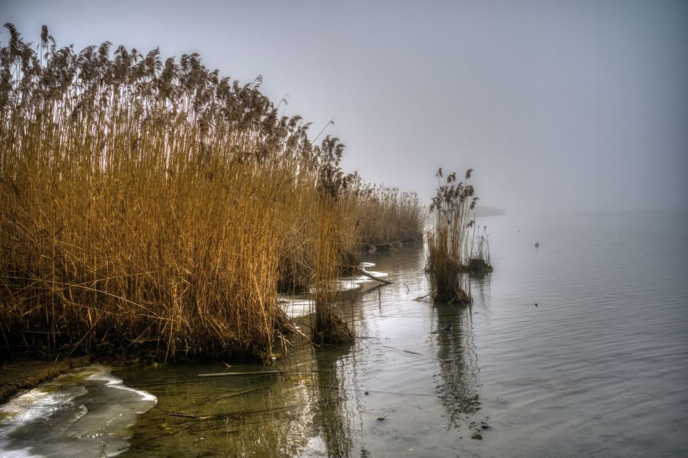
[[[426,203],[441,167],[507,214],[688,208],[688,1],[3,0],[0,22],[262,74],[345,172]]]

